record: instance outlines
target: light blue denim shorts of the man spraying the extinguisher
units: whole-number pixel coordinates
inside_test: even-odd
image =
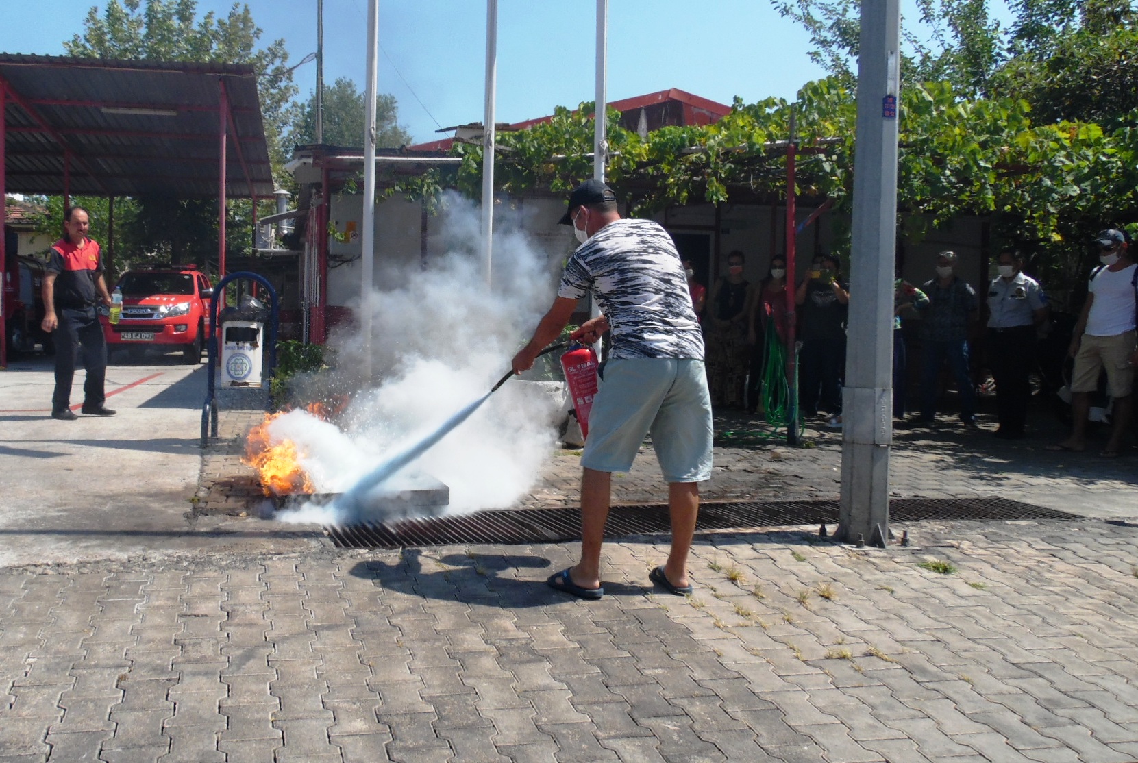
[[[703,360],[613,358],[601,368],[580,464],[627,472],[644,437],[667,482],[711,476],[711,396]]]

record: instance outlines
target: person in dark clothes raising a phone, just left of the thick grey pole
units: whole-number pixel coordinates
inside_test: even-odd
[[[846,372],[846,315],[849,288],[840,280],[841,264],[824,256],[794,293],[801,307],[802,349],[799,353],[799,408],[814,417],[818,408],[832,415],[838,428],[842,413],[842,375]]]

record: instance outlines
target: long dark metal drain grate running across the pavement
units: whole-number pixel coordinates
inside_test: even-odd
[[[836,500],[704,503],[696,530],[742,530],[838,522]],[[1006,498],[894,498],[890,519],[922,520],[1078,520],[1075,514]],[[576,508],[496,509],[462,516],[325,526],[337,548],[403,548],[461,544],[553,544],[580,537]],[[668,532],[668,506],[613,506],[605,538]]]

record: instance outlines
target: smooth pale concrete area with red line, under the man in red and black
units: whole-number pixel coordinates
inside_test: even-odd
[[[265,536],[264,528],[196,516],[205,365],[112,356],[107,407],[77,421],[51,418],[50,358],[17,359],[0,372],[0,565],[126,558],[211,548]]]

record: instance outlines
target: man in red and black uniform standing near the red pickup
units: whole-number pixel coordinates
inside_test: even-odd
[[[71,409],[71,385],[75,376],[75,355],[83,348],[83,413],[114,416],[107,408],[104,379],[107,374],[107,343],[96,306],[110,305],[102,279],[99,244],[86,238],[91,227],[86,209],[72,207],[64,221],[64,238],[51,247],[51,259],[43,276],[43,330],[56,343],[56,391],[51,396],[51,417],[76,418]]]

